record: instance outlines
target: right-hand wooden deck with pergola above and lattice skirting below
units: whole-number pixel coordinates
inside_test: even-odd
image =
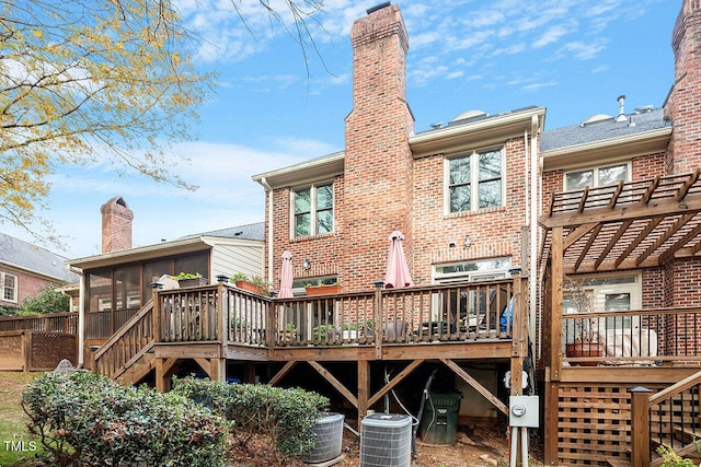
[[[545,464],[613,460],[646,467],[658,462],[656,445],[681,451],[690,437],[701,435],[701,307],[696,285],[663,290],[651,280],[642,283],[643,310],[588,313],[588,306],[563,314],[567,278],[625,269],[645,277],[646,271],[671,271],[675,264],[698,264],[700,175],[697,170],[553,194],[539,219],[544,229],[539,374]],[[671,277],[689,280],[681,271]],[[664,301],[645,303],[645,292]],[[653,302],[674,306],[654,307]],[[568,354],[567,343],[577,337],[599,342],[601,352]]]

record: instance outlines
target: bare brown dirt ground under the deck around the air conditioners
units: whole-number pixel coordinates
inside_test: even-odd
[[[256,446],[260,443],[258,446]],[[543,466],[542,443],[537,434],[531,435],[530,467]],[[258,439],[249,443],[249,452],[234,450],[230,466],[262,467],[269,462],[254,453],[262,453],[267,441]],[[251,457],[253,455],[253,457]],[[336,467],[358,467],[360,463],[360,440],[349,430],[344,430],[344,458],[334,464]],[[330,465],[330,464],[324,464]],[[457,442],[450,445],[428,445],[416,441],[416,458],[413,467],[507,467],[508,439],[506,427],[461,427],[457,434]],[[289,467],[308,466],[294,463]]]

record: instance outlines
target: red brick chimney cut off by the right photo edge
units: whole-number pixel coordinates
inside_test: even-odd
[[[667,171],[688,173],[701,166],[701,1],[685,0],[671,36],[675,83],[665,103],[671,120]]]

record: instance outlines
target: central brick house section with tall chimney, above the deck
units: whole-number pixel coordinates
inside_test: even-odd
[[[279,284],[287,249],[298,296],[309,283],[338,282],[344,293],[370,290],[384,278],[394,230],[405,236],[416,287],[505,279],[529,268],[524,248],[538,205],[530,171],[545,109],[472,110],[415,133],[399,7],[370,10],[354,24],[350,42],[353,109],[344,151],[253,177],[266,194],[268,279]],[[480,364],[471,375],[501,393],[508,365]],[[451,375],[444,380],[453,386]],[[471,385],[457,378],[455,386],[470,399],[460,416],[497,417]]]

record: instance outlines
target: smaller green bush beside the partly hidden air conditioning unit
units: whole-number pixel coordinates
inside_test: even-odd
[[[173,392],[210,407],[229,421],[234,439],[245,446],[254,434],[269,436],[275,465],[314,447],[314,425],[329,399],[299,388],[263,384],[227,385],[209,380],[174,378]]]

